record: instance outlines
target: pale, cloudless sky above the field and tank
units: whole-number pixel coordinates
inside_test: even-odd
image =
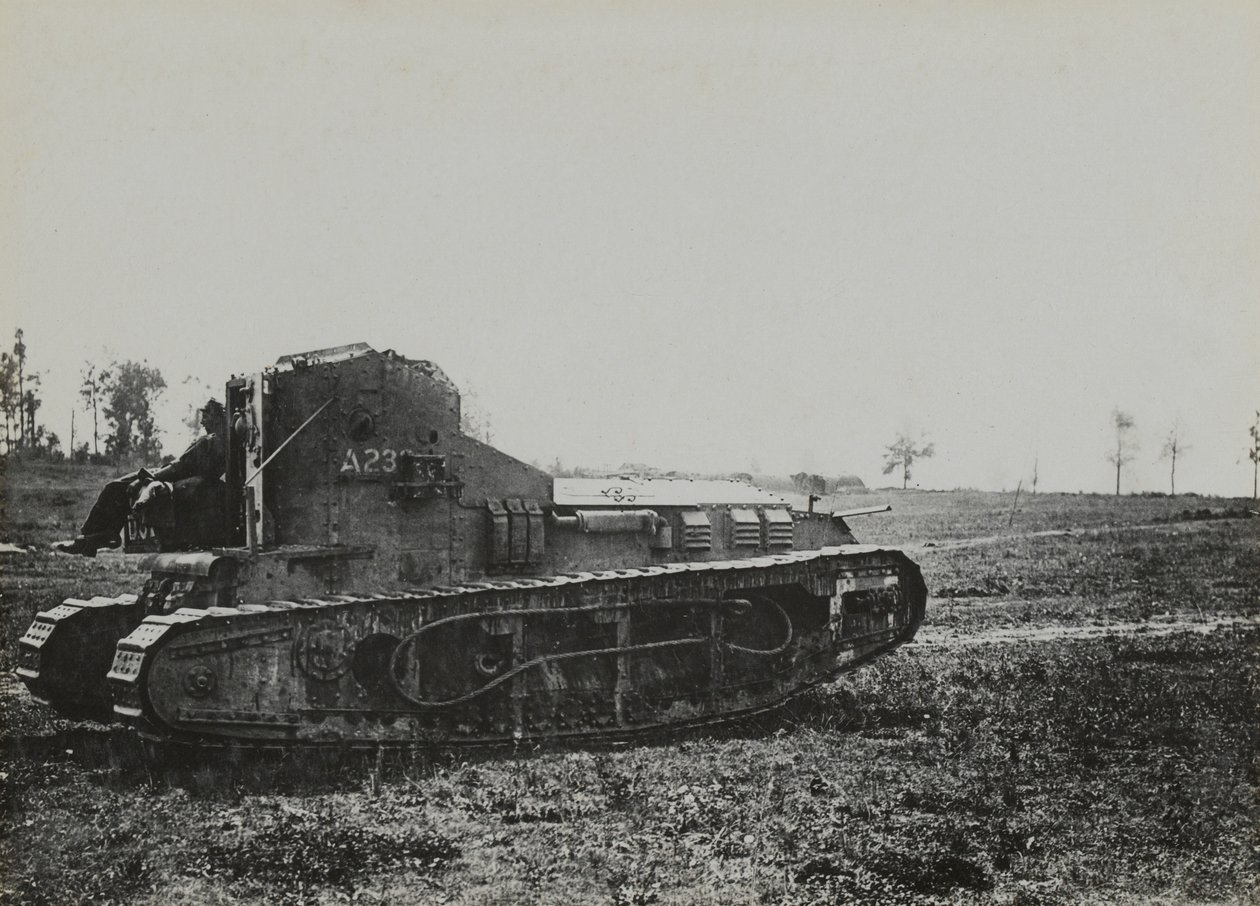
[[[0,341],[63,441],[367,341],[527,461],[1250,495],[1256,86],[1250,0],[0,0]]]

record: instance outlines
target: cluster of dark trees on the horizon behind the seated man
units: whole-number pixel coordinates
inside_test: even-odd
[[[25,451],[53,460],[116,462],[121,459],[161,459],[163,449],[154,408],[166,389],[161,372],[147,362],[121,360],[107,365],[84,362],[79,374],[79,397],[91,415],[91,431],[79,440],[74,431],[66,449],[37,415],[42,372],[30,368],[26,344],[19,328],[11,352],[0,353],[0,412],[4,416],[4,455]],[[103,446],[103,454],[102,454]]]

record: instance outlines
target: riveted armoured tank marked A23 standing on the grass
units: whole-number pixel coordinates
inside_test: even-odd
[[[286,355],[224,402],[222,485],[127,532],[158,548],[144,587],[21,639],[60,713],[189,745],[634,738],[777,707],[924,616],[919,567],[857,543],[857,513],[553,479],[461,432],[430,362]]]

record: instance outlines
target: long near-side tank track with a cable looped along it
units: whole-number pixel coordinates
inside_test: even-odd
[[[151,615],[108,670],[163,742],[495,745],[730,720],[911,639],[926,587],[843,546]]]

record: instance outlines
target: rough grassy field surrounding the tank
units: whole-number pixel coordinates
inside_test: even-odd
[[[8,474],[0,541],[98,471]],[[919,639],[759,722],[602,750],[208,761],[5,687],[4,903],[1251,903],[1260,519],[1249,500],[911,491]],[[0,554],[3,660],[132,561]],[[73,751],[67,751],[73,750]]]

